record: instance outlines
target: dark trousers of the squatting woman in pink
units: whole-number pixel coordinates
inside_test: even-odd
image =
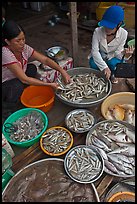
[[[34,64],[28,64],[26,75],[29,77],[35,77],[37,73],[37,67]],[[2,83],[2,102],[3,103],[17,103],[24,90],[27,87],[19,79],[14,78]]]

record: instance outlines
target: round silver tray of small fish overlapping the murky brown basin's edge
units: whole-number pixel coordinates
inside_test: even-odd
[[[96,148],[78,145],[66,154],[64,168],[72,180],[78,183],[93,183],[103,173],[104,160]]]

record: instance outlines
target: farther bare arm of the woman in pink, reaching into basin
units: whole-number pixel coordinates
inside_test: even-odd
[[[47,56],[45,56],[45,55],[43,55],[37,51],[34,51],[31,58],[38,60],[42,64],[48,65],[52,69],[59,71],[61,73],[62,77],[64,78],[65,82],[66,83],[70,82],[69,74],[62,67],[60,67],[56,62],[54,62],[52,59],[50,59],[49,57],[47,57]]]

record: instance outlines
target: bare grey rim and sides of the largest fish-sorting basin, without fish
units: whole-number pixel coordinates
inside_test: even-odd
[[[95,74],[98,78],[103,78],[104,81],[106,82],[106,85],[108,85],[108,91],[107,93],[102,93],[100,94],[96,99],[82,99],[80,102],[78,101],[70,101],[70,100],[66,100],[61,96],[61,92],[57,91],[56,92],[56,96],[59,98],[59,100],[61,100],[63,103],[73,106],[73,107],[79,107],[79,108],[84,108],[84,107],[91,107],[92,105],[95,105],[97,103],[102,102],[110,93],[111,93],[111,89],[112,89],[112,84],[110,82],[110,80],[107,80],[104,76],[104,74],[101,71],[97,71],[91,68],[86,68],[86,67],[77,67],[77,68],[73,68],[70,70],[67,70],[67,73],[70,76],[74,76],[74,75],[85,75],[85,74],[90,74],[93,73]],[[61,76],[59,76],[60,80],[63,83],[63,80],[61,78]]]

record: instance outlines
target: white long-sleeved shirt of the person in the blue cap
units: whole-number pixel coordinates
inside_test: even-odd
[[[92,37],[92,49],[89,57],[93,57],[94,62],[98,68],[102,71],[108,65],[105,60],[111,58],[122,59],[124,45],[127,40],[128,32],[124,28],[119,28],[116,32],[115,38],[107,44],[106,33],[104,27],[97,27]]]

